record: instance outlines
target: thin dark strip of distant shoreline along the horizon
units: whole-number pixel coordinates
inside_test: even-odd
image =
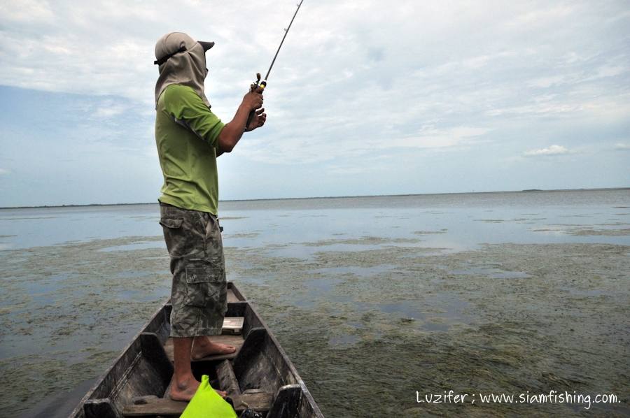
[[[601,187],[595,189],[524,189],[524,190],[500,190],[496,192],[452,192],[452,193],[412,193],[412,194],[367,194],[358,196],[314,196],[314,197],[279,197],[272,199],[234,199],[219,202],[256,202],[256,201],[297,201],[309,199],[356,199],[365,197],[402,197],[402,196],[435,196],[443,194],[491,194],[491,193],[533,193],[533,192],[594,192],[598,190],[630,190],[630,187]],[[155,202],[146,203],[89,203],[85,205],[42,205],[42,206],[3,206],[2,209],[41,209],[41,208],[86,208],[90,206],[137,206],[156,205]]]

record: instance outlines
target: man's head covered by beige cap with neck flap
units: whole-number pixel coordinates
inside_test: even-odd
[[[155,62],[160,77],[155,85],[155,103],[168,85],[180,84],[192,87],[209,105],[204,95],[204,80],[208,75],[206,51],[214,42],[197,42],[182,32],[162,36],[155,44]]]

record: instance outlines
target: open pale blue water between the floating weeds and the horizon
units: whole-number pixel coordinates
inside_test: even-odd
[[[363,236],[421,238],[424,246],[453,250],[479,243],[563,243],[567,235],[579,237],[571,242],[627,243],[608,231],[629,229],[629,194],[615,189],[229,201],[221,203],[220,215],[229,228],[225,238],[237,247],[334,244]],[[159,214],[157,204],[1,209],[0,248],[158,236]]]

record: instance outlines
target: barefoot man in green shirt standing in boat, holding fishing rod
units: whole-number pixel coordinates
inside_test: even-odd
[[[191,357],[235,351],[207,338],[221,334],[228,310],[216,157],[231,152],[244,131],[262,127],[267,119],[260,90],[244,96],[227,124],[211,112],[204,79],[205,53],[213,45],[180,32],[162,36],[155,45],[160,72],[155,85],[155,141],[164,175],[160,224],[173,273],[171,398],[176,401],[189,401],[199,386],[190,369]],[[246,126],[252,111],[254,117]]]

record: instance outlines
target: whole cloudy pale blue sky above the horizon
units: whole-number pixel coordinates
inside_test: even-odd
[[[0,0],[0,206],[155,202],[155,42],[229,122],[295,1]],[[628,1],[304,0],[220,199],[630,186]]]

